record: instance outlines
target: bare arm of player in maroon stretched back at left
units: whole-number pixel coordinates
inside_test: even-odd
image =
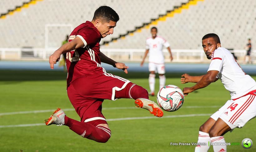
[[[84,43],[79,37],[76,37],[71,42],[62,45],[58,50],[54,51],[51,56],[49,56],[49,64],[51,69],[54,68],[54,64],[60,60],[60,57],[63,53],[72,51],[82,46],[84,46]]]

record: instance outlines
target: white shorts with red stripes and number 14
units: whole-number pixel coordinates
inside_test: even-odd
[[[251,93],[233,100],[228,100],[211,118],[221,118],[231,129],[243,127],[252,118],[256,117],[256,94]]]

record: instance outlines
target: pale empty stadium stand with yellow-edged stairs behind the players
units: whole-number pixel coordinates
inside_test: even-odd
[[[101,40],[103,50],[144,50],[152,26],[174,52],[201,49],[201,38],[207,33],[218,34],[223,47],[238,50],[239,56],[244,56],[247,38],[252,38],[253,47],[256,44],[255,0],[1,0],[0,51],[59,47],[65,35],[91,20],[101,5],[112,7],[120,16],[114,34]],[[201,54],[192,54],[201,60]]]

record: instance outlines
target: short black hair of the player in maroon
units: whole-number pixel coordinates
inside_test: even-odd
[[[119,20],[119,16],[111,7],[101,6],[94,12],[94,16],[92,20],[103,19],[106,22],[114,21],[117,22]]]

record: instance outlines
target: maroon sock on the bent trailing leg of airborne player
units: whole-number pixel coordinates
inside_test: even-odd
[[[78,135],[88,138],[97,142],[105,143],[111,136],[111,131],[109,128],[104,126],[93,126],[90,123],[84,123],[76,121],[74,119],[68,118],[65,116],[65,124],[73,132],[76,132]]]

